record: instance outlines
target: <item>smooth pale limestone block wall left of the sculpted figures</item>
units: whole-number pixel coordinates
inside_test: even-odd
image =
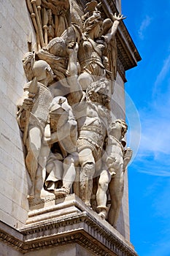
[[[0,219],[22,227],[27,219],[28,181],[16,121],[16,102],[26,83],[22,59],[31,31],[25,0],[0,1]]]

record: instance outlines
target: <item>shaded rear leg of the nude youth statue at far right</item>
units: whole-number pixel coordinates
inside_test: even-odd
[[[124,188],[124,173],[117,173],[115,178],[109,183],[109,194],[111,197],[111,206],[108,213],[109,223],[115,227],[117,219],[119,217],[120,206],[122,204]]]

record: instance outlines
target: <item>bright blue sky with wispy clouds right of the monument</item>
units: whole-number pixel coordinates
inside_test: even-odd
[[[135,155],[128,167],[131,242],[140,256],[170,255],[169,11],[169,0],[122,0],[125,26],[142,56],[125,83]]]

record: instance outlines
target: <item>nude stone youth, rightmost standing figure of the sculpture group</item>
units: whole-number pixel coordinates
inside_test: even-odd
[[[128,126],[123,119],[112,121],[108,130],[107,149],[103,158],[103,171],[98,180],[96,194],[97,209],[99,215],[107,217],[107,189],[111,199],[111,206],[108,212],[108,222],[115,226],[120,212],[121,200],[123,197],[124,173],[128,162],[131,160],[131,148],[125,146],[122,140],[127,132]]]

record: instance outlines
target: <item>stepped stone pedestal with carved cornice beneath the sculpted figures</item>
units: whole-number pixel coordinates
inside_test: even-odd
[[[137,255],[129,241],[76,195],[41,207],[31,206],[22,230],[1,224],[1,240],[18,252],[15,255]]]

